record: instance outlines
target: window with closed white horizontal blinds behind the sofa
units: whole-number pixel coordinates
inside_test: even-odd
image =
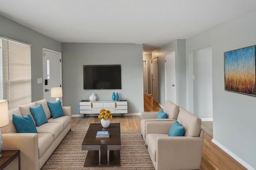
[[[0,38],[0,98],[9,109],[32,101],[30,51],[30,45]]]

